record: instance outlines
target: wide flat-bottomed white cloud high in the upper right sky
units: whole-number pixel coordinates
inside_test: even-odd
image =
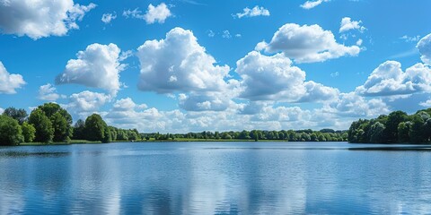
[[[268,53],[283,52],[295,59],[296,63],[323,62],[341,56],[357,56],[360,47],[337,43],[330,30],[323,30],[319,25],[287,23],[274,34],[269,43],[260,42],[257,50]]]

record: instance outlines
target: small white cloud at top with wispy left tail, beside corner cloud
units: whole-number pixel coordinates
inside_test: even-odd
[[[167,18],[172,16],[172,13],[166,4],[161,3],[157,6],[149,4],[145,14],[142,14],[142,11],[139,11],[139,9],[136,8],[133,11],[131,11],[130,9],[128,11],[124,11],[123,16],[125,16],[126,18],[132,17],[145,20],[147,24],[153,24],[155,22],[164,23]]]

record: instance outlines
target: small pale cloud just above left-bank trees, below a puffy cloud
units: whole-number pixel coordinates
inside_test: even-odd
[[[72,94],[69,97],[69,102],[62,107],[65,107],[73,115],[85,119],[86,116],[99,111],[99,108],[109,102],[110,99],[110,96],[104,93],[85,90]]]

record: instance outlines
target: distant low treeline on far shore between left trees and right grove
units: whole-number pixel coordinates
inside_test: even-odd
[[[142,133],[143,139],[150,140],[280,140],[288,142],[344,142],[347,141],[346,131],[322,129],[321,131],[282,130],[282,131],[242,131],[242,132],[201,132],[201,133]]]

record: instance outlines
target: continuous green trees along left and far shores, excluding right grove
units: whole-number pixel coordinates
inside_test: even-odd
[[[101,116],[92,114],[73,125],[72,116],[56,103],[45,103],[31,111],[8,107],[0,115],[0,145],[40,145],[99,142],[162,141],[287,141],[343,142],[346,131],[242,131],[201,133],[139,133],[107,125]]]

